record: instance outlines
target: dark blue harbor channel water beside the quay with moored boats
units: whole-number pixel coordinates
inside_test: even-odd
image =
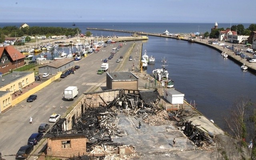
[[[145,49],[148,56],[156,58],[155,64],[149,64],[146,72],[152,74],[152,70],[160,68],[161,59],[165,57],[174,88],[184,93],[188,103],[196,104],[198,111],[222,129],[225,129],[224,117],[230,115],[230,107],[238,98],[245,96],[255,102],[256,75],[243,71],[239,64],[223,58],[212,48],[149,36],[143,43],[142,50]]]

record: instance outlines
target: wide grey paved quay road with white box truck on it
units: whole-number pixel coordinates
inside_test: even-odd
[[[114,58],[109,60],[110,72],[116,70],[120,63],[125,63],[123,70],[128,71],[128,67],[132,66],[133,61],[128,61],[129,56],[124,56],[134,42],[126,42],[123,47],[115,54]],[[74,101],[63,100],[63,90],[68,86],[77,86],[79,96],[83,92],[87,92],[95,84],[106,82],[106,73],[97,74],[97,70],[102,64],[102,59],[109,57],[112,48],[118,47],[119,43],[108,44],[107,47],[100,49],[98,53],[90,54],[88,57],[75,61],[75,65],[79,65],[80,69],[75,74],[71,74],[63,79],[58,79],[36,93],[38,99],[34,102],[22,101],[18,105],[12,107],[8,111],[0,114],[0,152],[2,156],[16,154],[20,146],[27,144],[27,140],[32,133],[38,131],[41,123],[49,123],[49,117],[52,113],[63,115],[67,108]],[[133,56],[135,57],[135,53]],[[124,56],[120,63],[116,60]],[[92,84],[90,84],[92,83]],[[29,117],[33,118],[30,125]],[[13,160],[14,156],[4,156],[6,160]]]

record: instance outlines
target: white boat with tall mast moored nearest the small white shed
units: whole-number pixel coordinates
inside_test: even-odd
[[[158,82],[162,84],[162,86],[166,88],[172,88],[174,86],[174,81],[168,77],[169,73],[165,69],[165,67],[168,66],[168,64],[165,58],[162,59],[161,66],[162,68],[153,70],[153,76],[156,80],[158,80]]]

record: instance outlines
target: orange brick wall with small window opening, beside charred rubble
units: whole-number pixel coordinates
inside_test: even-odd
[[[70,140],[70,148],[63,148],[62,141]],[[60,157],[73,157],[86,153],[85,136],[48,138],[47,154]]]

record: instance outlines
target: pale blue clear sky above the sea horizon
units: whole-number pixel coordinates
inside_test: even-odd
[[[256,23],[256,0],[5,0],[0,22]]]

